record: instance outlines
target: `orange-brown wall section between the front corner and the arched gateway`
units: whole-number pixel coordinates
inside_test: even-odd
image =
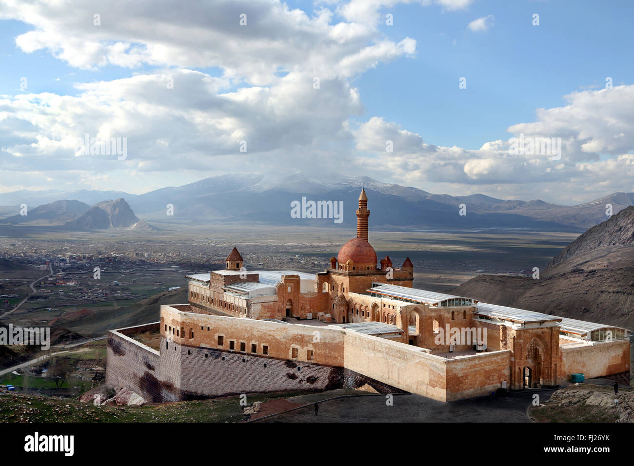
[[[487,395],[500,388],[503,380],[510,389],[511,357],[507,349],[448,359],[446,401]]]

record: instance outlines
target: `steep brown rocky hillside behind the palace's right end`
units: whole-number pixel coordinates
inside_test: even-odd
[[[479,301],[634,328],[634,207],[591,228],[555,257],[538,280],[479,275],[452,294]],[[554,265],[552,265],[554,264]]]

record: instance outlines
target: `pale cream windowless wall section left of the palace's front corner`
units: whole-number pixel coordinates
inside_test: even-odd
[[[345,334],[346,368],[392,387],[445,400],[446,363],[424,349],[353,331]]]

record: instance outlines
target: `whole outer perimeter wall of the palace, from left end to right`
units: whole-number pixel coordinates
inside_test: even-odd
[[[157,324],[109,332],[107,383],[129,387],[157,402],[365,384],[379,392],[408,391],[453,401],[488,394],[504,381],[507,388],[513,387],[510,349],[445,359],[429,349],[343,328],[214,316],[189,309],[161,306],[160,354],[126,335],[154,330]],[[521,342],[517,356],[525,356],[526,343],[534,337],[555,338],[553,331],[517,332],[528,337],[517,339]],[[560,367],[552,359],[564,380],[574,372],[583,372],[586,378],[615,375],[629,371],[628,345],[628,340],[569,344],[560,347]],[[527,359],[521,361],[524,365]],[[548,361],[547,357],[544,365]]]

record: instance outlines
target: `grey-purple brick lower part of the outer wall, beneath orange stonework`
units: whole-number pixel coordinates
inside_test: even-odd
[[[159,325],[153,324],[152,330]],[[133,334],[131,330],[123,331]],[[354,389],[365,384],[382,393],[402,392],[337,366],[183,346],[165,337],[160,345],[157,354],[121,330],[109,332],[106,383],[132,389],[155,403],[242,393]]]

